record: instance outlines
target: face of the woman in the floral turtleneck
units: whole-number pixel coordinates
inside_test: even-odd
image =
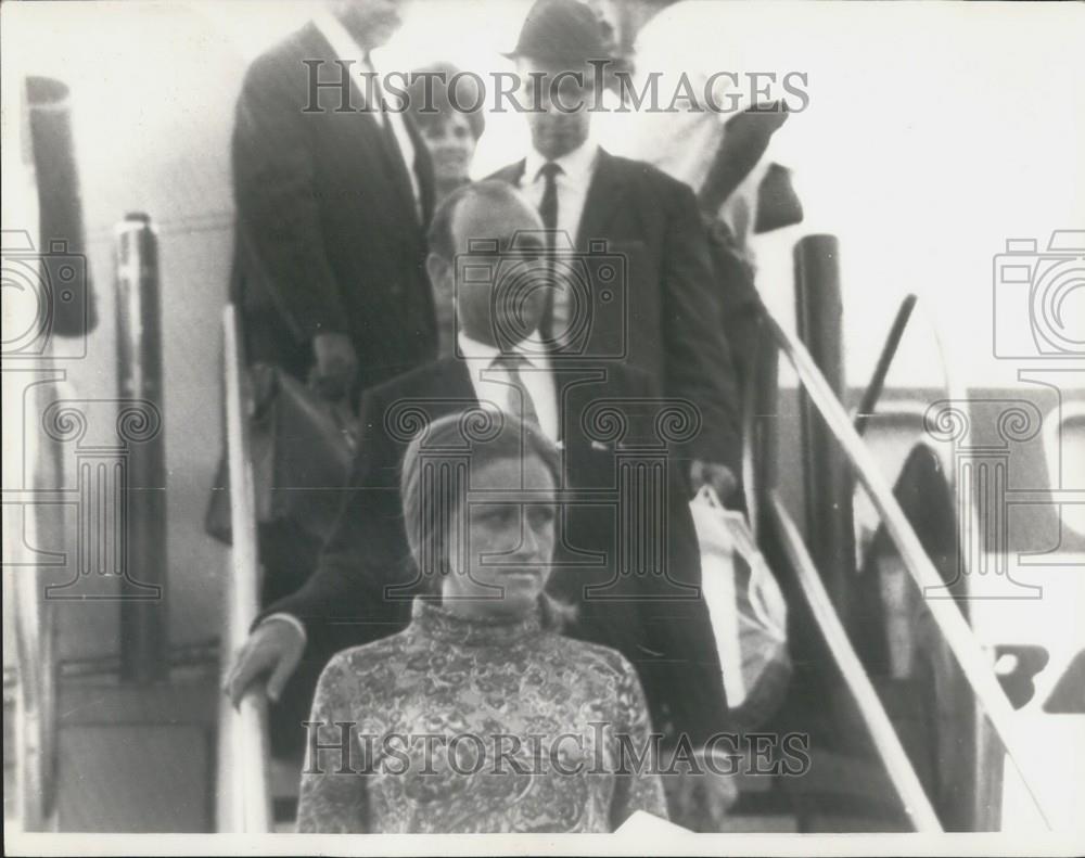
[[[510,488],[531,486],[529,490]],[[554,483],[536,456],[506,459],[472,471],[467,527],[454,528],[446,605],[475,616],[523,614],[550,576],[554,547]],[[465,535],[467,545],[459,545]]]

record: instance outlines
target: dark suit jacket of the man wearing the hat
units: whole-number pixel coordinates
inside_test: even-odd
[[[494,178],[519,187],[524,169],[520,161]],[[622,342],[624,359],[656,379],[663,394],[700,409],[704,431],[689,453],[737,475],[738,387],[693,192],[649,164],[600,150],[574,242],[586,253],[598,240],[625,257],[628,280],[620,311],[592,319],[588,354],[613,355]]]

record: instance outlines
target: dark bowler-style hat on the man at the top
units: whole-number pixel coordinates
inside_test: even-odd
[[[516,47],[502,56],[527,56],[570,67],[614,59],[602,24],[580,0],[538,0],[524,18]]]

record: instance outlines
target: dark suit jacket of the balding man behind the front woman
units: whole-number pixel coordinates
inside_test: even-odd
[[[620,489],[618,461],[666,460],[658,435],[661,402],[643,373],[622,367],[556,367],[554,382],[561,392],[565,484],[548,589],[577,605],[579,617],[571,635],[613,646],[637,667],[656,729],[686,731],[693,741],[704,741],[723,729],[726,702],[700,593],[700,554],[687,487],[673,463],[666,470],[669,479],[659,484],[665,502],[654,508],[668,513],[647,524],[623,524],[635,520],[643,495],[625,482],[636,469],[622,472]],[[626,432],[621,438],[609,432],[615,424],[600,412],[603,400],[623,415]],[[400,511],[403,454],[409,437],[429,420],[476,407],[468,369],[457,359],[422,367],[367,392],[366,436],[352,488],[317,572],[265,616],[285,612],[299,617],[310,653],[321,656],[403,628],[418,575]],[[633,533],[623,536],[623,526]],[[656,552],[666,558],[664,575],[652,574],[658,564],[646,560]],[[648,574],[618,575],[620,567]],[[390,591],[390,585],[398,589]]]

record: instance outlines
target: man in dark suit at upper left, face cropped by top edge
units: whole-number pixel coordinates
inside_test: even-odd
[[[434,179],[410,116],[381,112],[379,89],[365,85],[370,52],[399,26],[399,0],[314,5],[309,23],[253,62],[238,99],[231,299],[251,362],[354,408],[367,387],[436,355],[425,274]],[[273,599],[312,574],[320,539],[278,516],[261,523],[259,548],[263,596]],[[301,747],[290,725],[307,710],[317,667],[272,708],[277,754]]]

